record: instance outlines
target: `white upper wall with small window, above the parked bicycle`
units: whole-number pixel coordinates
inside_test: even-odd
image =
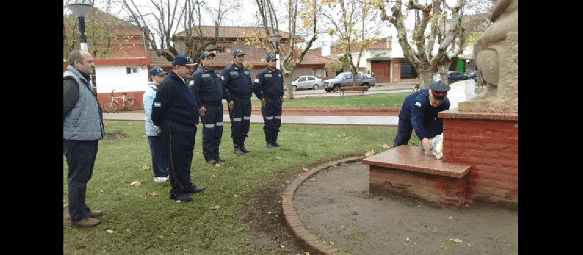
[[[126,67],[138,67],[137,73],[127,74]],[[146,91],[146,66],[96,66],[97,93]]]

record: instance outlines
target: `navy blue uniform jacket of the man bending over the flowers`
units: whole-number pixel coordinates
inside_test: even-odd
[[[415,134],[421,140],[427,138],[429,133],[427,128],[429,128],[431,122],[437,119],[437,113],[448,109],[449,99],[447,96],[440,106],[434,107],[429,103],[429,89],[420,89],[405,98],[399,118],[403,121],[410,121]]]

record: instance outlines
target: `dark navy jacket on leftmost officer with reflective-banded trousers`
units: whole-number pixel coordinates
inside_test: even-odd
[[[215,69],[205,70],[201,66],[190,77],[189,88],[199,108],[203,105],[220,105],[223,100],[223,80]]]

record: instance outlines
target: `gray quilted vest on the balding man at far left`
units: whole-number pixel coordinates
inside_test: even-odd
[[[67,66],[64,77],[72,77],[79,85],[79,100],[63,121],[63,139],[93,141],[104,136],[100,105],[89,81],[75,67]]]

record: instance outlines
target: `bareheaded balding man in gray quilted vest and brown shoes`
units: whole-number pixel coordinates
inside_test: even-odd
[[[69,216],[75,227],[99,224],[102,211],[85,203],[87,182],[93,174],[97,145],[103,138],[103,116],[97,94],[91,85],[95,64],[89,52],[69,53],[69,65],[63,73],[63,153],[67,159]]]

